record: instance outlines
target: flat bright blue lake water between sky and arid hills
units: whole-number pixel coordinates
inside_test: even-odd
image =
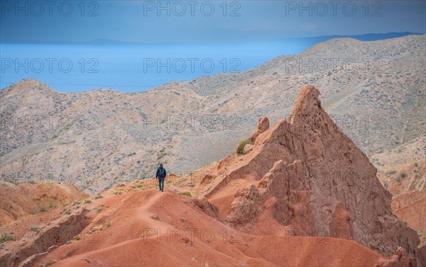
[[[406,33],[366,34],[353,38],[382,40],[404,35]],[[1,44],[0,89],[29,78],[60,92],[112,89],[136,93],[172,81],[246,71],[275,57],[297,55],[332,38],[227,44]]]

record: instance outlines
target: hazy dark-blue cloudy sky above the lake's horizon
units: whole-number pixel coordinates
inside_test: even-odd
[[[426,1],[0,3],[1,42],[240,42],[426,31]]]

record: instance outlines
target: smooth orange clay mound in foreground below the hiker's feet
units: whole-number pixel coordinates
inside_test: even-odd
[[[93,217],[79,241],[53,249],[33,266],[50,260],[56,261],[53,266],[374,266],[386,262],[380,254],[344,239],[244,234],[207,215],[206,203],[168,190],[138,191],[101,201],[109,208]],[[98,230],[88,234],[92,229]]]

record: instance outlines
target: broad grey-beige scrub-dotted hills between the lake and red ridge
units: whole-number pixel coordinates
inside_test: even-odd
[[[256,127],[288,117],[315,83],[342,131],[366,154],[425,133],[425,35],[329,40],[246,72],[173,82],[141,93],[59,93],[34,80],[0,91],[0,169],[54,174],[87,193],[217,161]]]

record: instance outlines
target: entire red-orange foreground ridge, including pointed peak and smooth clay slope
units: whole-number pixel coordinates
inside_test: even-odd
[[[417,234],[392,214],[391,194],[376,169],[322,110],[319,93],[302,86],[290,121],[269,127],[261,118],[246,154],[174,176],[164,193],[144,189],[155,188],[155,180],[140,187],[134,181],[67,206],[71,212],[40,222],[32,239],[4,243],[9,250],[0,251],[0,261],[22,267],[424,266]],[[194,197],[177,193],[189,190]],[[57,237],[54,229],[72,236],[48,239],[49,231]]]

